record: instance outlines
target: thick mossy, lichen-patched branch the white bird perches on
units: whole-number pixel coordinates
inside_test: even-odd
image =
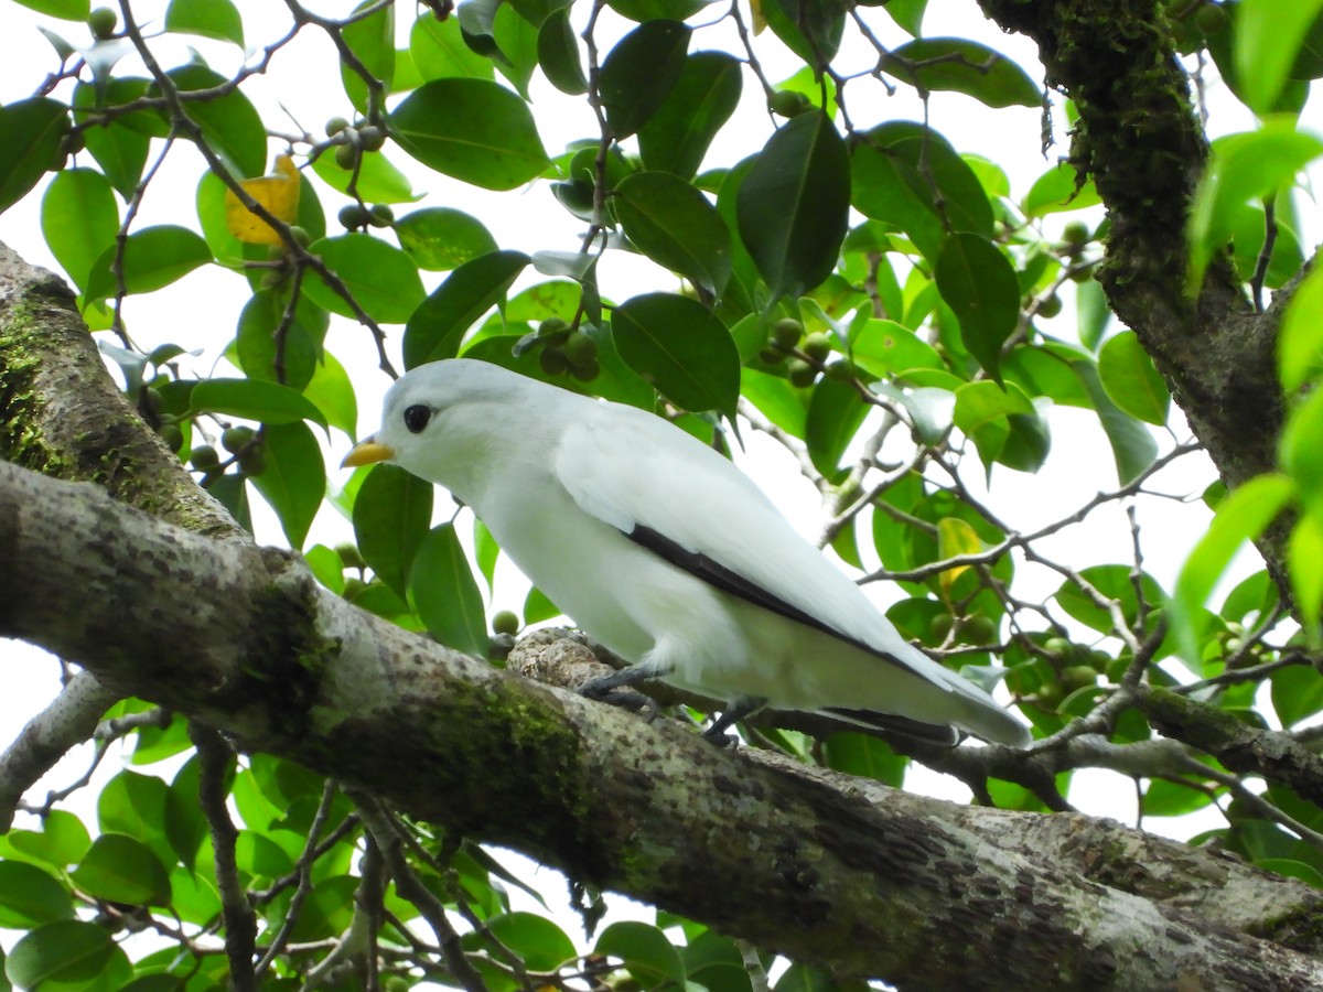
[[[0,635],[798,960],[906,988],[1323,981],[1323,899],[1303,884],[1106,824],[1089,825],[1088,864],[1048,858],[1044,831],[1086,821],[971,811],[712,747],[447,652],[319,589],[286,553],[180,530],[91,485],[0,464]],[[1054,848],[1064,858],[1069,841]],[[1138,848],[1147,866],[1123,853]],[[1174,909],[1135,873],[1218,898]]]

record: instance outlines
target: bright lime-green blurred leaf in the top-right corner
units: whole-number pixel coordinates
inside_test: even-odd
[[[1293,75],[1301,48],[1323,16],[1323,0],[1242,0],[1232,46],[1241,97],[1256,114],[1270,114]]]

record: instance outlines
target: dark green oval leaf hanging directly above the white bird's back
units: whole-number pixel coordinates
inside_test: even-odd
[[[611,313],[624,364],[683,410],[720,410],[734,419],[740,352],[712,311],[688,296],[652,292]]]

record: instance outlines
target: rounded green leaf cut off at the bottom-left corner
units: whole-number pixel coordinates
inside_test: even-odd
[[[13,946],[5,976],[20,988],[123,988],[132,976],[128,956],[110,930],[81,919],[48,923]]]

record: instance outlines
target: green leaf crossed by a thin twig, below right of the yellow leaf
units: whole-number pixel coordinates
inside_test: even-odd
[[[409,320],[426,291],[409,255],[370,234],[340,234],[308,249],[344,283],[364,312],[382,324]],[[319,307],[343,317],[357,315],[316,272],[303,280],[303,292]]]

